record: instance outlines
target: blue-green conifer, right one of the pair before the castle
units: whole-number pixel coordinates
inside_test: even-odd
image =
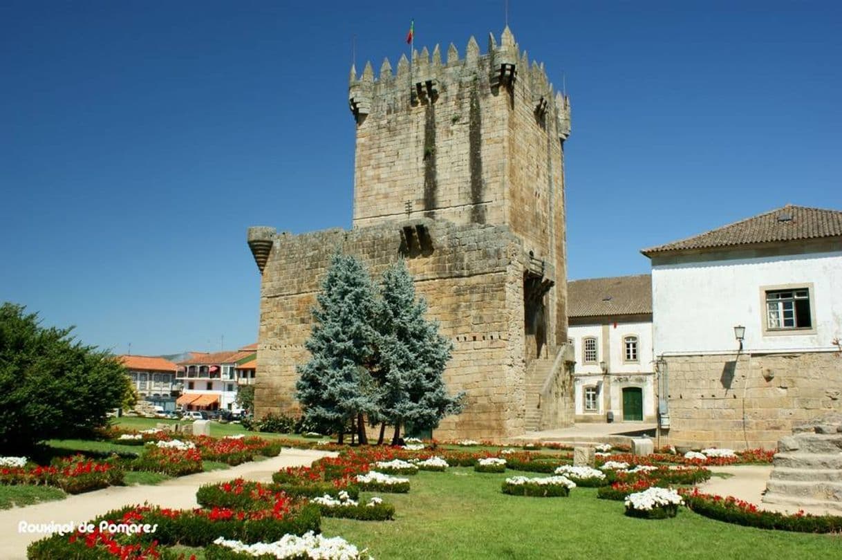
[[[378,415],[395,426],[392,445],[402,425],[434,429],[446,415],[463,408],[464,393],[450,396],[442,377],[453,344],[440,335],[438,323],[424,318],[426,311],[426,301],[416,301],[406,263],[386,269],[376,311],[376,381]]]

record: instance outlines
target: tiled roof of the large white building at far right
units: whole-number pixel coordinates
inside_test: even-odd
[[[842,236],[842,211],[786,205],[759,216],[717,227],[710,232],[643,249],[654,253],[739,247],[752,243],[775,243]]]

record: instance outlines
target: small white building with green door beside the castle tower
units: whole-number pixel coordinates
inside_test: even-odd
[[[653,422],[649,275],[568,282],[576,422]]]

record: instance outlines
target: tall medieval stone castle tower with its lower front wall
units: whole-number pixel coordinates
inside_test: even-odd
[[[351,69],[354,228],[292,236],[252,227],[261,284],[258,416],[294,412],[310,308],[336,248],[379,275],[407,259],[455,347],[445,379],[468,394],[438,438],[568,425],[563,145],[570,104],[509,28],[480,54],[450,45]]]

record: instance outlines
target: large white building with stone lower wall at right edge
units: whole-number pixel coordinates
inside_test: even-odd
[[[842,410],[842,212],[787,205],[642,253],[672,443],[774,447]]]

